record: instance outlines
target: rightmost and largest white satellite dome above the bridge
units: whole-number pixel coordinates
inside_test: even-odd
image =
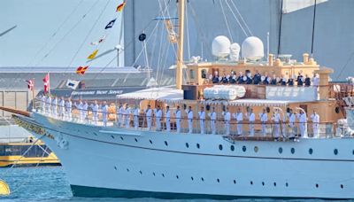
[[[265,56],[263,42],[256,36],[246,38],[242,43],[242,58],[258,60]]]

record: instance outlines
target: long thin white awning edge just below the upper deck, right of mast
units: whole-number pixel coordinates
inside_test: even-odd
[[[296,101],[267,100],[267,99],[236,99],[232,101],[225,100],[204,100],[205,105],[234,105],[234,106],[277,106],[284,107]]]

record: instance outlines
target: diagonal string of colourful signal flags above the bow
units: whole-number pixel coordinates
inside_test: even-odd
[[[127,0],[124,0],[121,4],[119,4],[116,8],[116,12],[122,12],[124,7],[126,6],[127,4]],[[114,23],[115,21],[117,20],[116,19],[112,19],[111,21],[108,22],[108,24],[104,27],[104,30],[107,30],[107,29],[110,29],[114,26]],[[102,37],[100,37],[96,42],[91,42],[90,44],[91,45],[99,45],[100,43],[104,43],[104,40],[105,40],[105,37],[106,35],[103,35]],[[98,49],[95,49],[95,51],[92,51],[89,56],[88,56],[88,59],[91,60],[93,58],[96,58],[96,55],[98,53]],[[85,74],[85,72],[89,69],[89,66],[79,66],[77,69],[76,69],[76,74],[79,74],[79,75],[83,75]]]

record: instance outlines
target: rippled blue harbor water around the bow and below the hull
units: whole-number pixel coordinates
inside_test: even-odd
[[[89,177],[89,176],[88,176]],[[156,198],[73,198],[63,167],[15,167],[0,168],[0,179],[9,184],[12,194],[0,197],[0,201],[171,201]],[[174,199],[173,201],[215,201],[207,199]],[[270,198],[240,198],[233,201],[285,201]],[[286,201],[314,201],[291,199]],[[316,199],[316,201],[322,201]],[[347,200],[348,201],[348,200]],[[354,201],[354,200],[350,200]]]

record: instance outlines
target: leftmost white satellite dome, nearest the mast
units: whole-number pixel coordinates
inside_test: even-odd
[[[212,55],[225,58],[230,54],[231,42],[225,35],[218,35],[212,40]]]

